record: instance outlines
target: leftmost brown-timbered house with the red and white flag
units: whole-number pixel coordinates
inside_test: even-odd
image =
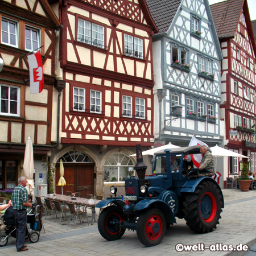
[[[55,30],[60,23],[46,0],[1,0],[0,6],[0,189],[14,188],[23,174],[28,137],[34,144],[35,184],[46,184],[43,163],[52,149]],[[33,51],[42,56],[44,88],[40,94],[30,93],[27,55]]]

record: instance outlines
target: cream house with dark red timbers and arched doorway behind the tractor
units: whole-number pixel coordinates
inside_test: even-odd
[[[153,143],[157,28],[144,0],[49,2],[63,26],[57,65],[65,81],[52,163],[63,159],[64,192],[102,195],[104,181],[129,176],[135,145]]]

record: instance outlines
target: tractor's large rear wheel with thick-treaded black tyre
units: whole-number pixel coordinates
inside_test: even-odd
[[[184,218],[191,230],[208,233],[216,229],[222,212],[222,197],[216,184],[200,183],[194,193],[185,196],[183,205]]]

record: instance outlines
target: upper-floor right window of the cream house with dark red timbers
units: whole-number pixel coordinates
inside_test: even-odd
[[[143,41],[125,34],[125,55],[143,59]]]

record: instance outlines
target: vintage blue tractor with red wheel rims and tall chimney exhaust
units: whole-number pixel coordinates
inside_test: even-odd
[[[184,218],[196,233],[212,232],[219,224],[224,208],[220,186],[213,172],[192,168],[193,155],[200,146],[180,147],[155,153],[154,172],[145,176],[141,145],[137,145],[137,176],[125,180],[125,196],[102,200],[104,207],[98,217],[98,230],[106,240],[118,240],[126,229],[136,230],[139,241],[146,246],[158,245],[166,228]]]

